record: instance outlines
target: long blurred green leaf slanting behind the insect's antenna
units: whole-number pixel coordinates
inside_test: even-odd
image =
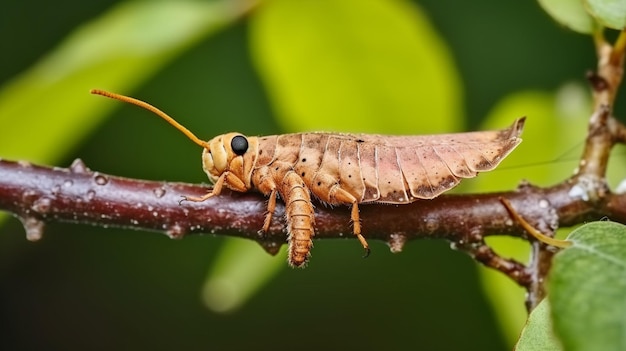
[[[59,160],[119,106],[90,96],[90,89],[123,93],[138,87],[247,6],[121,2],[0,89],[0,155],[38,163]]]

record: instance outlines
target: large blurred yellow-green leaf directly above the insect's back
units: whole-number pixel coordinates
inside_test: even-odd
[[[417,134],[463,121],[445,44],[401,0],[275,0],[251,20],[253,60],[290,131]]]

